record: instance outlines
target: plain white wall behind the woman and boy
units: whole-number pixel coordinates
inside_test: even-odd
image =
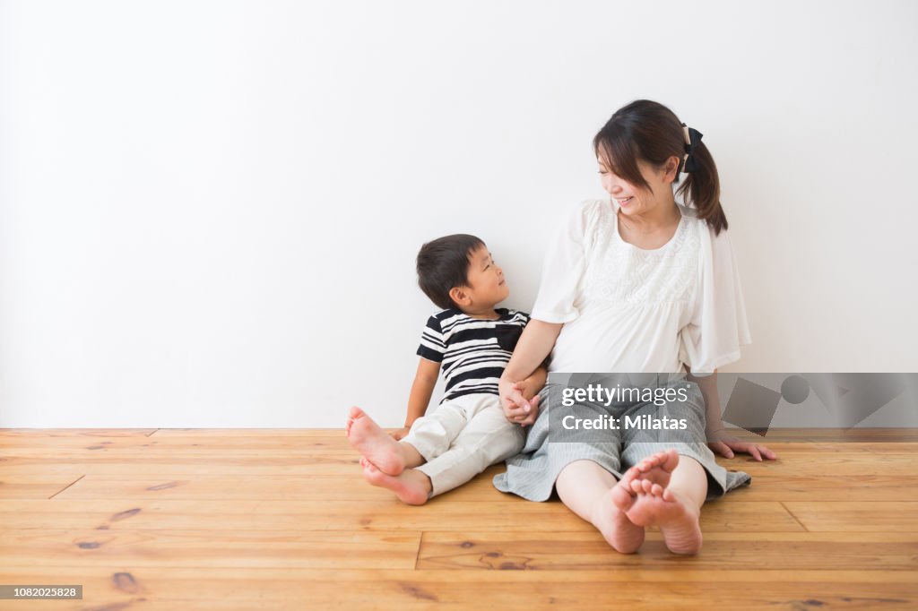
[[[0,3],[0,427],[404,417],[420,244],[528,309],[590,140],[704,134],[754,345],[918,371],[918,4]]]

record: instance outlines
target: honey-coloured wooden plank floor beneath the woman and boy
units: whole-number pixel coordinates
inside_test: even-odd
[[[498,493],[502,467],[399,505],[340,430],[0,429],[0,584],[84,586],[0,609],[916,609],[918,435],[884,439],[912,440],[719,459],[754,481],[678,557]]]

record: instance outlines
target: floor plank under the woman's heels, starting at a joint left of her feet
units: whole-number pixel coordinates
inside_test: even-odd
[[[762,569],[918,571],[918,534],[706,531],[698,557],[684,564],[666,550],[659,532],[648,532],[636,554],[610,549],[599,532],[425,531],[418,569],[588,571],[620,566],[675,572],[755,565]],[[918,576],[918,572],[915,573]],[[677,576],[674,575],[674,579]]]

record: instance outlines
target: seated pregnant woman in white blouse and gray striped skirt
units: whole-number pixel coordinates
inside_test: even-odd
[[[499,384],[507,417],[532,428],[495,486],[534,501],[556,490],[623,553],[652,525],[669,550],[700,550],[701,505],[751,480],[724,470],[711,449],[777,458],[723,430],[714,374],[750,338],[717,169],[700,138],[649,100],[622,107],[599,130],[593,148],[611,198],[567,210],[547,246],[532,321]],[[689,194],[691,207],[673,193],[683,171],[677,194]],[[532,403],[515,385],[549,354],[549,372],[689,372],[688,428],[662,446],[627,431],[609,433],[609,442],[550,442],[549,411],[564,385],[548,384]],[[700,372],[711,375],[691,375]],[[655,410],[620,407],[618,415]]]

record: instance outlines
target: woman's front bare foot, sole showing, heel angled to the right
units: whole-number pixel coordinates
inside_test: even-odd
[[[676,465],[671,464],[671,458],[665,456],[668,453],[658,452],[651,458],[675,469]],[[675,461],[678,463],[678,454],[675,454]],[[668,475],[666,478],[668,483]],[[660,528],[666,547],[670,551],[677,554],[695,554],[701,549],[698,507],[686,503],[669,488],[644,479],[642,472],[635,468],[625,473],[621,482],[612,488],[612,492],[616,505],[634,524]]]

